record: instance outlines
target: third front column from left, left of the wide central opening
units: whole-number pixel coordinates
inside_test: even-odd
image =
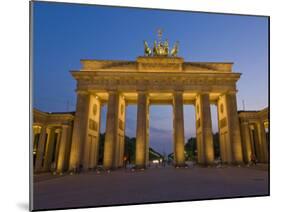
[[[138,93],[137,132],[136,132],[136,167],[145,168],[148,163],[148,99],[144,91]]]

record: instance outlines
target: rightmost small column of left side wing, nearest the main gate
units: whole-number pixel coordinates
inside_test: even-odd
[[[67,145],[69,143],[69,125],[62,125],[60,142],[59,142],[59,151],[58,151],[58,160],[57,160],[57,172],[62,173],[66,170],[66,153]]]

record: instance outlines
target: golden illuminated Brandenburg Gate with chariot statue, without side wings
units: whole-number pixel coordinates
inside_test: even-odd
[[[136,61],[81,60],[82,68],[71,71],[77,81],[69,170],[97,166],[101,107],[107,104],[104,144],[105,169],[121,167],[124,155],[126,106],[137,105],[135,165],[145,168],[149,161],[149,106],[173,106],[174,164],[183,166],[185,104],[194,105],[198,163],[214,162],[210,104],[218,108],[222,162],[243,162],[237,113],[236,82],[240,73],[233,63],[185,62],[178,57],[176,42],[155,41]]]

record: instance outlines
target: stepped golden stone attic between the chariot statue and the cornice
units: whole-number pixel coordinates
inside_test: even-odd
[[[138,57],[136,61],[81,60],[81,71],[232,72],[232,62],[185,62],[181,57]]]

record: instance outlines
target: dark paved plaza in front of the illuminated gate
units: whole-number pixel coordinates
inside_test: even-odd
[[[159,167],[36,175],[34,208],[86,207],[268,195],[267,166]]]

